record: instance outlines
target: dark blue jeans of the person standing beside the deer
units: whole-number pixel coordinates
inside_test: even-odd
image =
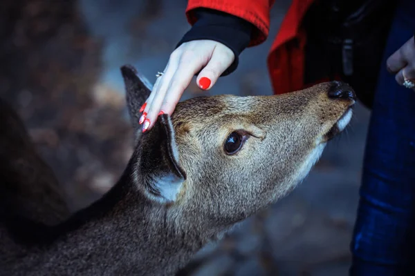
[[[398,3],[371,113],[350,275],[415,275],[415,92],[386,60],[414,35],[415,1]]]

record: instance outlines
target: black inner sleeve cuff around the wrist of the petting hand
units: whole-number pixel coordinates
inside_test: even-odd
[[[208,8],[194,10],[198,19],[192,28],[183,36],[177,44],[198,39],[210,39],[218,41],[234,52],[234,62],[223,72],[221,77],[229,75],[238,67],[239,55],[250,42],[252,24],[232,14],[219,12]]]

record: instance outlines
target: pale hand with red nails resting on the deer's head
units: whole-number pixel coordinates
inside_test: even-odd
[[[158,115],[172,115],[192,77],[202,68],[196,83],[208,90],[233,61],[234,52],[216,41],[194,40],[179,46],[170,55],[163,75],[157,78],[149,98],[140,108],[142,132],[154,126]]]

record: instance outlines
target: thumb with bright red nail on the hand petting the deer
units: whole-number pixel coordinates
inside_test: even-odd
[[[196,83],[203,90],[208,90],[214,86],[214,83],[219,79],[223,72],[234,61],[234,53],[232,50],[226,48],[219,50],[216,48],[212,53],[212,57],[208,64],[199,72]]]

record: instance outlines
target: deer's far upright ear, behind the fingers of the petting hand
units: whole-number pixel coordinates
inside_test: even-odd
[[[138,124],[141,116],[140,108],[149,97],[153,85],[144,76],[138,74],[136,68],[129,64],[121,67],[121,74],[124,78],[128,112],[137,141],[141,134]]]

